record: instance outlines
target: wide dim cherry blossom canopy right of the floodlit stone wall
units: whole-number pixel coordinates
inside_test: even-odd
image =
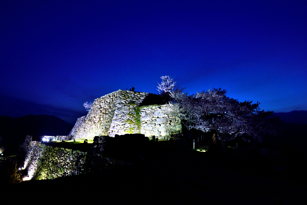
[[[188,129],[215,131],[222,142],[244,133],[261,142],[266,134],[276,134],[278,119],[271,117],[273,112],[260,111],[259,102],[239,102],[227,97],[227,91],[222,89],[213,88],[196,95],[183,90],[170,92],[171,101],[164,112],[181,118]]]

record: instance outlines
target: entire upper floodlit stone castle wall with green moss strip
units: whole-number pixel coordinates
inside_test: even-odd
[[[164,105],[139,107],[150,93],[118,90],[95,99],[87,116],[77,120],[71,139],[141,133],[167,139],[181,133],[178,117],[163,114]]]

